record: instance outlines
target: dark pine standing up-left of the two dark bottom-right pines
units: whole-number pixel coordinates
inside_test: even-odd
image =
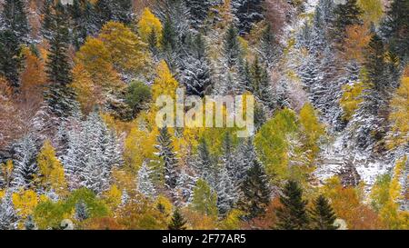
[[[265,213],[265,208],[270,203],[270,188],[264,166],[257,160],[247,171],[247,176],[242,184],[243,195],[239,206],[247,213],[247,220]]]

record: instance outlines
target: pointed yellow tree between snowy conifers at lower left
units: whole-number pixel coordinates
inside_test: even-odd
[[[56,193],[65,193],[66,182],[63,164],[55,155],[55,149],[47,140],[37,157],[40,171],[40,182],[46,189],[53,189]]]

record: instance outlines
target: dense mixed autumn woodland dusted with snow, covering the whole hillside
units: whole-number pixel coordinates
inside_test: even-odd
[[[0,229],[409,229],[409,0],[0,4]]]

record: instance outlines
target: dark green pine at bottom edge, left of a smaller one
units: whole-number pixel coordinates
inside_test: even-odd
[[[310,220],[306,212],[307,202],[303,200],[303,190],[299,184],[289,181],[284,186],[283,195],[280,196],[282,207],[277,210],[277,228],[283,230],[308,229]]]

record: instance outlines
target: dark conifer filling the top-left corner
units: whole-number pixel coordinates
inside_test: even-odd
[[[14,33],[17,44],[26,43],[30,33],[27,16],[25,14],[25,1],[5,0],[1,18],[2,29]]]

